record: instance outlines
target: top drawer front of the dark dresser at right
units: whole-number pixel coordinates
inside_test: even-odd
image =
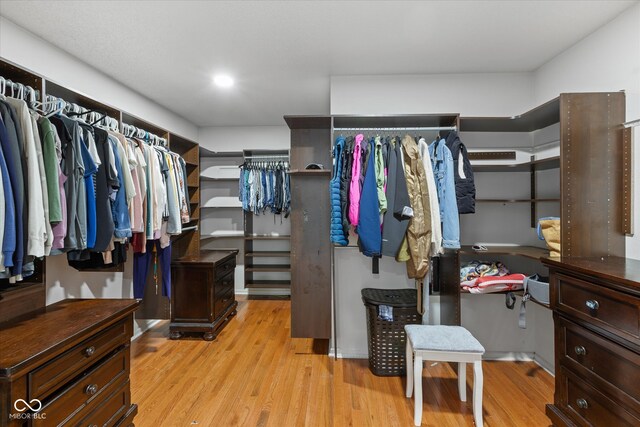
[[[640,343],[640,298],[557,275],[558,309]]]

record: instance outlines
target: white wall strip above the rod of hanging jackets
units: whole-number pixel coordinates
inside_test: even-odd
[[[532,97],[529,73],[331,77],[331,114],[511,116]]]

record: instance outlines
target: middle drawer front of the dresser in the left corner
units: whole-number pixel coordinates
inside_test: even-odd
[[[72,383],[43,407],[47,414],[42,424],[34,426],[58,426],[73,423],[97,406],[101,406],[114,384],[121,384],[129,377],[129,349],[125,348],[108,357],[86,375]],[[110,387],[111,386],[111,387]]]

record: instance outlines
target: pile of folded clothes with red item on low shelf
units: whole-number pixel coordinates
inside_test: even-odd
[[[472,294],[521,290],[525,277],[511,274],[500,261],[471,261],[460,268],[460,286]]]

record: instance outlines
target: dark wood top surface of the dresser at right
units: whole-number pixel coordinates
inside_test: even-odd
[[[542,258],[552,268],[574,271],[640,291],[640,260],[621,257]]]

